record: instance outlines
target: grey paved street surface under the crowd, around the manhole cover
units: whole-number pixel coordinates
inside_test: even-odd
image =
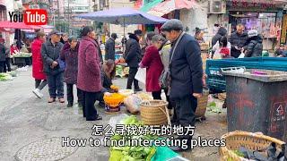
[[[19,73],[20,75],[15,80],[0,82],[0,160],[9,161],[24,157],[28,153],[17,153],[19,150],[22,151],[23,147],[30,149],[30,152],[37,151],[39,149],[37,146],[41,147],[40,144],[36,144],[34,148],[27,148],[27,145],[34,141],[61,137],[89,139],[94,123],[106,125],[110,117],[117,115],[105,114],[103,109],[98,108],[103,120],[86,122],[76,105],[73,108],[66,108],[58,102],[48,104],[48,87],[43,89],[43,99],[36,98],[31,92],[34,86],[31,68],[28,72]],[[126,86],[124,79],[114,80],[114,83],[122,88]],[[126,110],[122,110],[123,112]],[[220,138],[227,131],[226,112],[207,113],[206,117],[207,120],[203,123],[196,123],[196,136],[200,135],[206,139]],[[59,144],[60,141],[51,142],[46,150],[39,152],[39,155],[44,153],[51,155],[50,151],[57,151]],[[109,149],[104,147],[87,146],[66,151],[68,152],[64,160],[103,161],[109,159]],[[57,157],[61,154],[53,155]],[[191,160],[218,160],[218,148],[195,148],[192,152],[185,152],[182,155]]]

